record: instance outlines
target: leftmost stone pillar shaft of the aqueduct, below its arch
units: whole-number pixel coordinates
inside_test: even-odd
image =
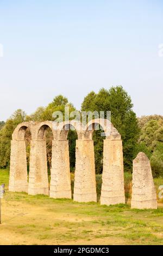
[[[26,142],[11,141],[9,191],[28,192]]]

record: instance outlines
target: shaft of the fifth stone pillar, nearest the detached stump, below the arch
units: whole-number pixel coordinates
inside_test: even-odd
[[[122,140],[104,139],[101,204],[125,203]]]

